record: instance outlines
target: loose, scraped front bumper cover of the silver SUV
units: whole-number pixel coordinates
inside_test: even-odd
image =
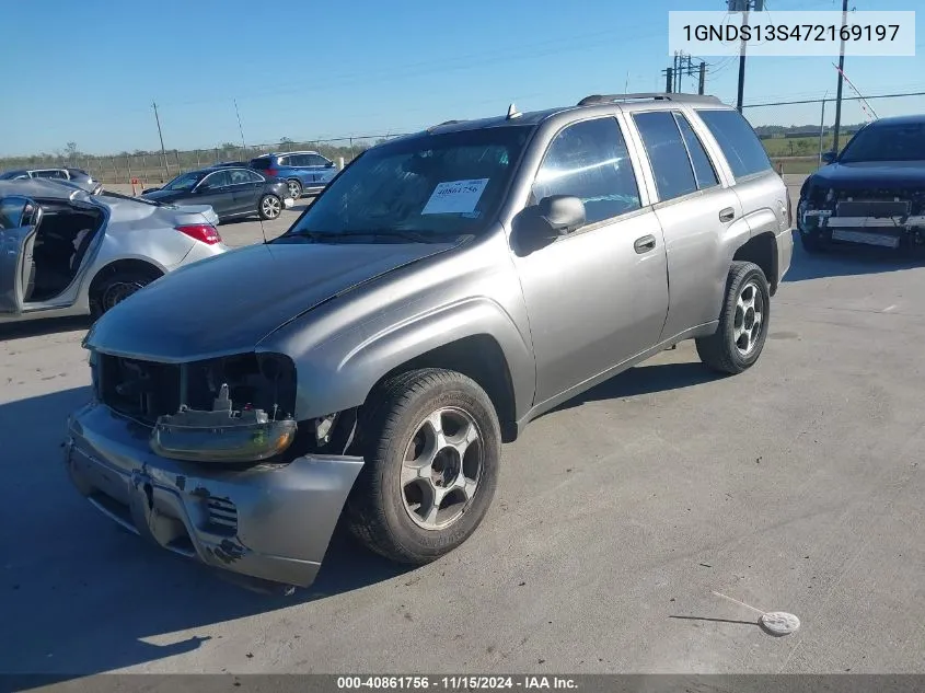
[[[241,576],[311,585],[362,458],[301,457],[245,471],[160,458],[150,429],[103,404],[68,420],[74,486],[125,529]]]

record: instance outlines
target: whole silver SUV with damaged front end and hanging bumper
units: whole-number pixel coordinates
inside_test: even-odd
[[[286,590],[342,513],[372,550],[432,561],[540,414],[683,339],[718,371],[758,360],[788,199],[704,96],[511,106],[389,141],[282,236],[94,324],[67,467],[131,531]]]

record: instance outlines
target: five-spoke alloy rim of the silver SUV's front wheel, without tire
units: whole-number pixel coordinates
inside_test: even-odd
[[[426,530],[459,520],[478,489],[482,434],[475,419],[455,407],[425,418],[408,443],[402,464],[402,499],[408,517]]]

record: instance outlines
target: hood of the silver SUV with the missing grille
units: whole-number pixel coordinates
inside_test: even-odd
[[[319,303],[453,244],[248,245],[182,267],[107,311],[85,346],[180,362],[253,350]]]

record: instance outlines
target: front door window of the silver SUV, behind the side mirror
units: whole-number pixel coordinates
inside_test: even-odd
[[[639,209],[639,187],[612,117],[583,120],[556,135],[533,183],[533,197],[570,195],[585,203],[586,223]]]

